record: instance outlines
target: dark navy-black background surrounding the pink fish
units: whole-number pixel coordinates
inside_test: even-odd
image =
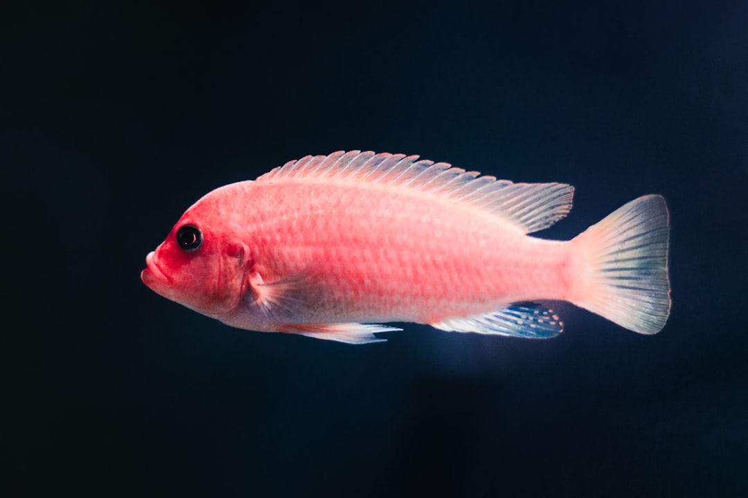
[[[4,496],[748,496],[748,3],[4,7]],[[307,154],[671,210],[660,334],[231,329],[141,284],[204,193]]]

